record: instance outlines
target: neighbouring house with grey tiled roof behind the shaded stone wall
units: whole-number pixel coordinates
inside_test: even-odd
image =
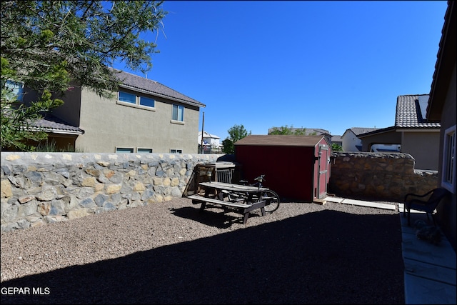
[[[398,96],[395,126],[358,134],[362,151],[393,144],[413,156],[416,169],[438,170],[440,123],[426,119],[427,103],[428,94]]]

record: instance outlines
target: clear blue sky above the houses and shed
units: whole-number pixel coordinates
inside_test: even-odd
[[[226,139],[276,126],[343,135],[395,123],[399,95],[428,94],[446,1],[165,1],[147,78],[205,104]],[[131,73],[124,66],[114,66]]]

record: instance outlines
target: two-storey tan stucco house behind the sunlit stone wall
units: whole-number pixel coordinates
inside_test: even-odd
[[[103,99],[87,89],[74,88],[67,91],[64,105],[51,112],[80,132],[74,134],[71,129],[71,134],[66,133],[70,138],[76,136],[76,149],[196,154],[199,111],[205,105],[157,81],[118,72],[122,84],[114,99]],[[56,127],[52,123],[43,126],[49,132]]]

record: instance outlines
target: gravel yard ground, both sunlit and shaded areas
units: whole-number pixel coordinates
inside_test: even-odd
[[[2,233],[1,304],[404,304],[398,205],[242,218],[183,198]]]

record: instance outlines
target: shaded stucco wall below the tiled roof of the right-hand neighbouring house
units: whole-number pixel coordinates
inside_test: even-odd
[[[399,131],[402,135],[401,152],[416,160],[415,169],[438,171],[439,131]]]

